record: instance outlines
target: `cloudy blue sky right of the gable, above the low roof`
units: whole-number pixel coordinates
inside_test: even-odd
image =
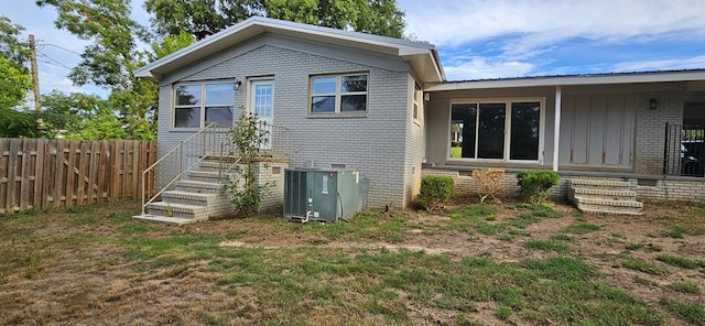
[[[618,64],[609,53],[599,54],[604,62],[589,64],[554,56],[558,48],[565,53],[565,41],[595,48],[703,40],[702,0],[399,0],[398,4],[406,12],[408,33],[445,53],[448,80],[705,67],[702,56],[671,59],[661,55],[659,61]],[[693,55],[699,53],[673,53],[672,57]]]

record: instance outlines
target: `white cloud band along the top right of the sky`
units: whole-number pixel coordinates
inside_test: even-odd
[[[619,42],[637,36],[703,35],[702,0],[400,0],[408,31],[438,46],[514,36],[534,48],[571,37]]]

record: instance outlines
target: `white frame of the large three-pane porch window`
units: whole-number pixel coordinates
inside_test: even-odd
[[[511,97],[511,98],[464,98],[464,99],[453,99],[448,105],[448,131],[446,134],[446,142],[451,140],[451,126],[453,123],[453,106],[454,105],[469,105],[477,104],[477,108],[479,110],[479,106],[481,104],[505,104],[505,143],[503,143],[503,152],[502,159],[475,159],[475,157],[451,157],[451,146],[446,145],[446,160],[456,161],[456,162],[507,162],[507,163],[539,163],[543,165],[544,162],[544,139],[545,139],[545,115],[546,115],[546,106],[545,106],[545,97]],[[536,155],[536,160],[510,160],[510,150],[511,150],[511,109],[512,104],[514,102],[539,102],[539,153]],[[479,115],[476,117],[479,119]],[[477,126],[477,123],[476,123]],[[475,128],[475,149],[477,150],[477,145],[479,142],[478,138],[478,129]]]

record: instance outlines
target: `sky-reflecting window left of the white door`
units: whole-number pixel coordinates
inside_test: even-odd
[[[232,126],[235,83],[184,84],[175,87],[174,128]]]

